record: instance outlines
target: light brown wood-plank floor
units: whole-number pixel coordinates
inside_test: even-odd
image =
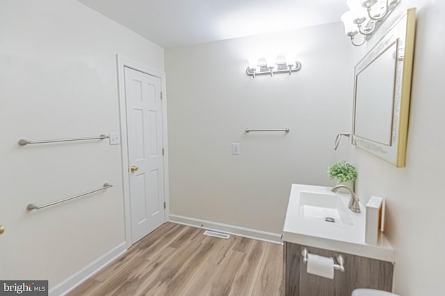
[[[68,296],[281,296],[283,247],[165,223]]]

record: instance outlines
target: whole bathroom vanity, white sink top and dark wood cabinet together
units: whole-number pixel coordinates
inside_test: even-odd
[[[330,189],[292,185],[283,232],[284,295],[349,296],[356,288],[391,291],[394,248],[383,234],[378,245],[364,243],[366,208],[360,203],[362,212],[353,213],[348,209],[350,195]],[[334,259],[333,279],[308,273],[307,254]]]

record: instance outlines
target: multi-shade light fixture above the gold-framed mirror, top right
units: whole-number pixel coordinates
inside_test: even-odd
[[[341,15],[345,34],[354,46],[362,46],[391,14],[401,0],[346,0],[349,11]],[[362,42],[354,42],[357,37]]]

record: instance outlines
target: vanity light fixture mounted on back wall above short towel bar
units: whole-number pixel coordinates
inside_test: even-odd
[[[264,60],[266,60],[266,62],[264,62]],[[273,55],[267,56],[264,59],[249,57],[248,62],[249,67],[245,69],[245,73],[248,76],[253,76],[253,78],[261,74],[270,74],[270,76],[273,76],[273,74],[276,73],[289,73],[289,75],[291,75],[292,72],[297,72],[301,69],[301,62],[297,60],[294,61],[289,57],[286,57],[286,60],[280,62],[277,62],[277,59]]]

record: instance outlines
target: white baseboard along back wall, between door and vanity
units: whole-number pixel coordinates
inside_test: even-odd
[[[235,225],[229,225],[224,223],[212,222],[197,218],[191,218],[186,216],[179,216],[170,214],[168,216],[170,222],[179,223],[183,225],[200,227],[203,229],[214,230],[216,232],[224,232],[226,234],[234,234],[236,236],[244,236],[247,238],[254,238],[260,241],[268,241],[270,243],[282,243],[281,234],[274,234],[272,232],[263,232],[257,229],[250,229],[245,227],[239,227]]]

